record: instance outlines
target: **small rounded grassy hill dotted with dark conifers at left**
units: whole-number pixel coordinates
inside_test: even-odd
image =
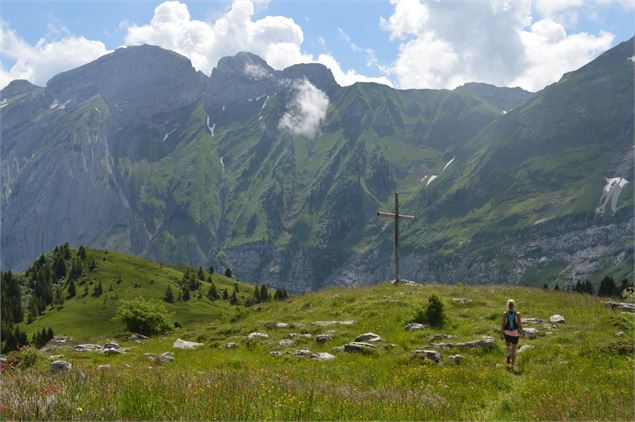
[[[75,256],[77,250],[71,249],[71,254]],[[48,327],[52,327],[55,333],[84,340],[115,335],[124,329],[123,323],[112,320],[117,308],[122,300],[136,297],[161,302],[174,314],[174,321],[183,327],[215,321],[230,312],[233,306],[226,301],[210,301],[206,297],[210,286],[207,280],[210,276],[220,294],[224,289],[231,294],[236,284],[241,303],[253,295],[253,286],[224,275],[212,275],[204,270],[206,281],[201,281],[202,297],[199,297],[198,291],[192,291],[187,302],[177,300],[167,303],[163,297],[168,285],[171,286],[174,295],[178,295],[178,283],[183,279],[185,272],[196,273],[197,269],[167,266],[107,250],[87,249],[87,255],[89,260],[95,259],[96,267],[90,272],[84,270],[82,276],[75,281],[77,295],[68,298],[68,280],[62,282],[65,297],[63,306],[48,308],[33,323],[23,324],[22,328],[29,337],[32,333]],[[222,269],[223,272],[224,270],[225,268]],[[95,297],[93,291],[99,283],[102,285],[103,293]],[[25,302],[28,302],[28,298]]]

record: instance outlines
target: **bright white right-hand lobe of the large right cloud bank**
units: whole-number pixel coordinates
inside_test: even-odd
[[[564,27],[551,19],[534,23],[521,31],[525,46],[526,70],[510,85],[522,86],[530,91],[542,89],[558,81],[562,74],[575,70],[607,50],[613,34],[600,32],[567,35]]]

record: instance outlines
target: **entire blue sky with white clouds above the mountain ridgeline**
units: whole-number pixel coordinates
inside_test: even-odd
[[[39,85],[125,45],[156,44],[211,71],[248,49],[282,68],[327,65],[340,84],[538,90],[633,36],[635,0],[3,0],[0,85]],[[154,20],[153,20],[154,19]],[[185,34],[185,35],[184,35]]]

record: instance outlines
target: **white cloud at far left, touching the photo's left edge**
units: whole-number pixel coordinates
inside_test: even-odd
[[[36,85],[57,73],[81,66],[109,53],[101,41],[75,37],[67,31],[50,30],[47,37],[31,45],[9,26],[0,22],[0,56],[15,62],[10,69],[0,66],[0,88],[14,79],[27,79]]]

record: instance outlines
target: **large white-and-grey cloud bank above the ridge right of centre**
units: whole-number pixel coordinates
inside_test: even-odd
[[[576,2],[538,1],[534,7],[555,16]],[[569,35],[555,17],[533,22],[528,0],[465,2],[461,7],[420,0],[391,3],[393,14],[379,24],[399,42],[389,74],[400,88],[452,89],[479,81],[535,91],[593,59],[612,42],[607,32]],[[573,15],[568,16],[571,20]]]

